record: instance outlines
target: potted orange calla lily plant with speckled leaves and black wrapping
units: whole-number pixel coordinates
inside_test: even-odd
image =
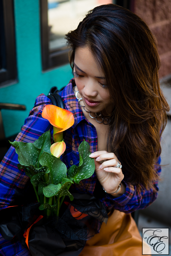
[[[66,149],[63,131],[74,124],[73,114],[50,104],[42,117],[54,127],[52,145],[50,131],[34,143],[10,142],[18,154],[18,168],[24,168],[31,179],[36,200],[31,197],[29,203],[1,210],[0,232],[7,240],[17,236],[33,256],[77,256],[107,221],[99,199],[69,192],[72,184],[93,175],[94,159],[83,141],[78,148],[79,165],[67,170],[59,158]]]

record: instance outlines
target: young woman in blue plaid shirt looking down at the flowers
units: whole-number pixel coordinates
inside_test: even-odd
[[[84,139],[89,143],[95,173],[70,189],[95,195],[109,212],[107,226],[87,241],[80,255],[142,255],[129,213],[157,197],[160,137],[168,110],[159,86],[155,38],[142,19],[113,4],[89,11],[66,38],[74,78],[60,95],[75,122],[66,131],[61,160],[68,168],[77,164],[79,144]],[[33,142],[49,129],[53,134],[51,124],[41,118],[49,103],[44,94],[36,99],[16,140]],[[3,208],[28,179],[24,170],[17,169],[17,154],[11,147],[1,163]],[[15,239],[1,239],[1,248],[3,255],[29,253]]]

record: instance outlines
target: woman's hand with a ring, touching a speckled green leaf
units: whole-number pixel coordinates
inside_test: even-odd
[[[122,169],[115,168],[115,166],[117,166],[119,162],[115,154],[108,153],[107,151],[96,151],[90,154],[89,157],[94,158],[96,176],[102,187],[106,190],[108,194],[115,192],[124,178]],[[100,161],[104,160],[106,161],[102,164],[99,163]],[[120,162],[119,164],[121,165]],[[118,193],[124,194],[125,187],[123,184],[121,184],[121,190],[122,193],[121,191],[118,191]],[[117,195],[117,193],[114,195]]]

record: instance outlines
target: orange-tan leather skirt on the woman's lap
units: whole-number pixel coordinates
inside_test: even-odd
[[[146,253],[151,254],[147,246]],[[131,214],[118,210],[110,212],[107,224],[100,232],[86,242],[79,256],[140,256],[142,238]]]

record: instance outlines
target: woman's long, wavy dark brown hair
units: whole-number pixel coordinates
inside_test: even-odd
[[[107,4],[90,10],[66,39],[72,69],[76,47],[88,46],[104,71],[114,106],[108,140],[124,179],[156,191],[155,163],[169,106],[160,90],[155,37],[136,14]]]

